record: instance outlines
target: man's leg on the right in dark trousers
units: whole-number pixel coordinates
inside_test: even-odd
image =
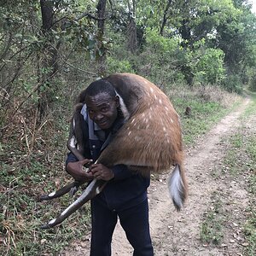
[[[153,256],[148,223],[148,199],[135,207],[118,213],[120,224],[125,230],[128,241],[134,248],[133,255]]]

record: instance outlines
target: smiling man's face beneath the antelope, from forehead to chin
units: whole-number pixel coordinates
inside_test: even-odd
[[[107,130],[117,118],[119,97],[112,98],[108,93],[99,93],[96,96],[86,96],[85,103],[92,119],[102,130]]]

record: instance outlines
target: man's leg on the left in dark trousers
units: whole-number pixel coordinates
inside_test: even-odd
[[[113,230],[117,223],[117,214],[109,210],[102,201],[93,199],[91,206],[90,256],[111,255]]]

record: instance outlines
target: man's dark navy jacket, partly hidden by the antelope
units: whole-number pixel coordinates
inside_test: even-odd
[[[124,124],[124,119],[118,117],[110,131],[106,132],[102,131],[85,111],[83,116],[84,157],[95,161]],[[72,153],[69,153],[66,164],[77,160]],[[113,166],[112,171],[114,174],[113,179],[108,181],[102,193],[96,196],[96,200],[104,201],[110,209],[123,210],[133,207],[147,198],[147,188],[150,183],[149,177],[142,177],[131,172],[128,166],[125,165]]]

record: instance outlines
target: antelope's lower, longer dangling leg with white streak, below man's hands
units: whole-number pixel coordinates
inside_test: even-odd
[[[82,207],[84,203],[90,201],[90,199],[94,198],[96,195],[102,192],[102,189],[107,184],[107,181],[97,180],[96,178],[84,189],[82,195],[73,202],[66,210],[61,212],[61,214],[57,217],[49,221],[48,224],[44,224],[41,226],[41,229],[49,229],[54,227],[56,224],[61,224],[66,218],[68,218],[73,212],[77,211],[79,207]]]

